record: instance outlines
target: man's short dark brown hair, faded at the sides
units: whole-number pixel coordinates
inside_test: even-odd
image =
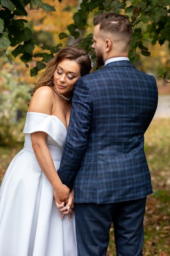
[[[132,38],[132,26],[130,20],[125,15],[116,13],[103,13],[94,17],[94,26],[100,25],[99,30],[116,34],[125,38],[130,44]]]

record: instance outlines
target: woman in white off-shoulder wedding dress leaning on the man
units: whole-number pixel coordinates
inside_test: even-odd
[[[34,88],[23,130],[24,147],[11,161],[0,187],[0,256],[77,255],[74,215],[69,209],[70,221],[60,221],[63,215],[57,213],[56,205],[64,205],[55,199],[65,198],[69,189],[56,170],[74,85],[90,70],[91,59],[84,49],[65,47],[49,61]],[[63,195],[58,195],[61,186]]]

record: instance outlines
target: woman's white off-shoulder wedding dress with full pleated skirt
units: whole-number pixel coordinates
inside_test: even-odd
[[[59,169],[67,129],[57,118],[28,112],[24,148],[11,161],[0,187],[0,256],[77,256],[75,217],[60,220],[53,188],[31,146],[30,134],[44,131]]]

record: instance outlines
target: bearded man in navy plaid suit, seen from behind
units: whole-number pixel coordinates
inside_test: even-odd
[[[144,133],[157,107],[156,81],[128,59],[127,17],[94,18],[98,66],[74,89],[59,177],[74,186],[78,256],[105,256],[114,225],[117,256],[142,256],[146,196],[152,193]]]

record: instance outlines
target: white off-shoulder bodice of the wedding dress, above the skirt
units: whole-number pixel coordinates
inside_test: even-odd
[[[48,134],[46,144],[50,151],[63,151],[67,129],[57,116],[44,113],[28,112],[26,123],[23,129],[25,134],[24,149],[34,152],[30,134],[36,131],[43,131]]]

